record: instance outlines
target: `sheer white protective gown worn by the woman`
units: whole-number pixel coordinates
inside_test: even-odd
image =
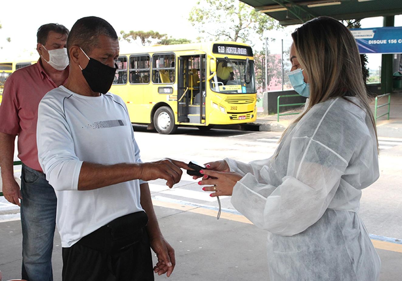
[[[317,104],[275,154],[248,164],[225,159],[244,176],[233,206],[269,231],[269,280],[378,280],[381,262],[357,214],[361,189],[379,176],[365,111],[343,98]]]

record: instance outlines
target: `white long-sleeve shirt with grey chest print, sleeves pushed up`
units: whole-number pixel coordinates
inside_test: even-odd
[[[140,180],[78,191],[83,161],[141,163],[119,96],[82,96],[64,86],[51,90],[39,104],[37,146],[39,163],[57,196],[56,224],[63,247],[115,218],[143,210]]]

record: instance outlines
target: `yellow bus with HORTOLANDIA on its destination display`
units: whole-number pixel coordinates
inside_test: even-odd
[[[256,120],[254,60],[236,42],[154,45],[120,55],[110,92],[121,96],[131,122],[161,134],[177,126]]]

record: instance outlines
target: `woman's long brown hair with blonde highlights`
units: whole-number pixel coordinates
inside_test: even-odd
[[[363,81],[356,41],[342,23],[334,18],[314,18],[292,33],[297,60],[308,75],[310,98],[306,110],[293,120],[294,126],[316,104],[332,98],[355,97],[356,104],[369,115],[377,139],[377,129]],[[353,103],[353,102],[352,102]],[[378,149],[378,139],[377,139]]]

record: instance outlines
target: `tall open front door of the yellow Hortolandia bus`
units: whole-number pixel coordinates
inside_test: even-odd
[[[205,54],[178,57],[177,120],[205,123]]]

